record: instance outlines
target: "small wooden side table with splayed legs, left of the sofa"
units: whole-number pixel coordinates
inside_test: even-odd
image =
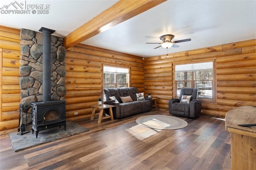
[[[91,121],[94,120],[94,115],[95,115],[96,109],[100,110],[98,123],[101,123],[102,119],[111,118],[111,120],[114,120],[113,112],[112,112],[112,107],[116,107],[115,105],[105,105],[105,104],[102,104],[102,105],[91,105],[91,107],[92,107]],[[104,109],[109,109],[110,116],[106,116],[105,113],[103,113]]]

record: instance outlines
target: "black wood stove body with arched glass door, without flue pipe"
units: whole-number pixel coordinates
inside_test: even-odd
[[[36,138],[40,130],[64,126],[66,130],[66,101],[46,101],[32,103],[32,134]]]

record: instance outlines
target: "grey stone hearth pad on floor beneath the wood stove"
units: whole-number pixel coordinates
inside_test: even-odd
[[[72,122],[66,122],[66,131],[64,126],[51,128],[48,130],[41,130],[38,133],[38,138],[36,138],[36,132],[32,134],[32,130],[29,133],[23,135],[17,135],[18,132],[10,132],[9,136],[12,142],[12,148],[15,152],[24,150],[26,148],[31,148],[40,144],[58,140],[61,138],[66,138],[74,134],[80,134],[89,131],[88,128],[81,127],[80,125]]]

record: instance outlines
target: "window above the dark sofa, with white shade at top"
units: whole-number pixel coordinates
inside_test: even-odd
[[[103,70],[104,89],[129,87],[129,69],[122,67],[103,66]]]

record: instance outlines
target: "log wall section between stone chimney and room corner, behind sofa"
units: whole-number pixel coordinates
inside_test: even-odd
[[[66,117],[70,120],[90,117],[90,105],[102,97],[102,65],[130,68],[130,86],[144,92],[142,57],[79,44],[67,49],[66,64]]]

